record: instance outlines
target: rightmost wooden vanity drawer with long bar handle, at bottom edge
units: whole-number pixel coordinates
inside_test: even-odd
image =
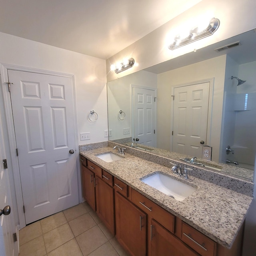
[[[181,240],[202,256],[216,255],[216,242],[184,222],[182,222]]]

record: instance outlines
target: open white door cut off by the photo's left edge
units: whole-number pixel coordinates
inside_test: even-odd
[[[1,117],[0,117],[1,119]],[[0,127],[1,120],[0,120]],[[16,232],[16,225],[14,221],[14,214],[12,208],[12,199],[10,194],[10,182],[8,176],[8,168],[4,169],[3,160],[5,158],[4,141],[2,131],[0,130],[0,209],[3,210],[5,206],[11,207],[9,215],[0,217],[0,256],[18,255],[18,243],[13,240],[13,233]]]

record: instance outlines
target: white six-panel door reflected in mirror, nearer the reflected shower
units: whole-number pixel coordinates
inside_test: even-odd
[[[209,82],[174,88],[174,152],[202,158],[207,134],[209,90]]]

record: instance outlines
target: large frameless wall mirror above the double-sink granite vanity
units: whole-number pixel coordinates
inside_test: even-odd
[[[220,163],[222,171],[252,181],[255,45],[256,32],[251,30],[108,82],[109,140],[125,145],[134,142],[137,148],[154,154],[177,152],[177,157],[188,158],[207,159],[202,146],[210,146],[211,163]],[[246,82],[237,86],[238,79]],[[184,111],[188,108],[182,105],[188,99],[192,99],[187,103],[192,104],[192,112]],[[193,105],[193,101],[203,103]],[[190,136],[186,136],[188,132]],[[177,139],[177,134],[188,140]]]

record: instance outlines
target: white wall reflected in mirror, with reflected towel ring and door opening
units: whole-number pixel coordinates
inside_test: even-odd
[[[156,88],[157,75],[141,70],[140,72],[108,82],[108,125],[109,129],[112,130],[110,140],[132,136],[131,85]],[[125,112],[124,120],[118,119],[119,110]],[[130,134],[124,135],[123,128],[130,128]]]

